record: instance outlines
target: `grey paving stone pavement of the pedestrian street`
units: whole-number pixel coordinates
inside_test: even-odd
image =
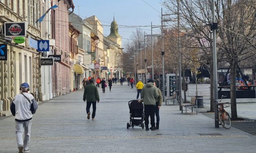
[[[136,89],[101,88],[96,120],[87,120],[83,90],[39,105],[33,116],[31,153],[255,153],[256,136],[234,127],[214,128],[202,114],[181,114],[177,105],[160,109],[160,129],[126,128],[128,101]],[[17,153],[14,117],[0,120],[0,153]]]

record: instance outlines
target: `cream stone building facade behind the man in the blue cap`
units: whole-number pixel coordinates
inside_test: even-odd
[[[29,38],[40,39],[41,25],[36,23],[40,17],[40,0],[0,0],[0,26],[4,22],[25,22],[27,32],[25,42],[16,44],[12,37],[0,35],[0,44],[7,46],[7,60],[0,61],[0,99],[3,102],[2,114],[10,114],[10,105],[13,97],[20,93],[19,86],[23,82],[30,85],[30,93],[37,100],[42,97],[39,94],[40,84],[40,53],[29,45]]]

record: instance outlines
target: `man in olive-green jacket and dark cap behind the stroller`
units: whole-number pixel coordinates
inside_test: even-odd
[[[158,98],[158,91],[154,85],[154,80],[149,79],[148,83],[143,87],[141,92],[141,102],[144,103],[144,112],[145,112],[145,127],[146,131],[149,131],[149,116],[151,130],[155,129],[155,105],[156,99]]]

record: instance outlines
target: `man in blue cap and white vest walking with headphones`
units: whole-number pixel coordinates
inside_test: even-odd
[[[35,98],[28,93],[29,84],[20,85],[21,94],[17,94],[11,103],[11,114],[15,116],[16,122],[16,141],[19,153],[29,152],[29,142],[31,136],[31,125],[33,114],[36,113],[37,102]],[[24,131],[24,140],[22,138]]]

